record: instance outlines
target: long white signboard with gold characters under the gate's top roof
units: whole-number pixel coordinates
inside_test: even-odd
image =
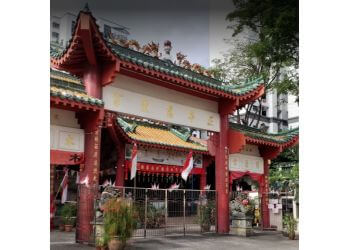
[[[220,131],[218,103],[117,75],[103,88],[105,108],[208,131]]]

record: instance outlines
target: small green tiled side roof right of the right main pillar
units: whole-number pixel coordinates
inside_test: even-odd
[[[280,143],[280,144],[289,142],[294,137],[299,135],[299,128],[291,129],[289,131],[281,132],[277,134],[269,134],[269,133],[262,132],[259,129],[251,128],[251,127],[240,125],[237,123],[230,123],[230,127],[232,129],[242,132],[244,135],[250,138],[258,139],[262,141]]]

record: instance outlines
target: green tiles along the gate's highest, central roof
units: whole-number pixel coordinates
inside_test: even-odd
[[[97,32],[97,36],[94,39],[101,39],[102,43],[104,43],[104,48],[102,49],[101,53],[107,53],[106,58],[111,58],[111,54],[116,56],[118,59],[122,61],[122,66],[129,68],[130,66],[127,65],[127,63],[134,64],[136,66],[141,66],[145,69],[145,71],[142,71],[146,74],[153,75],[152,71],[157,71],[159,73],[166,74],[170,77],[174,77],[176,79],[172,79],[171,81],[175,81],[179,85],[188,87],[188,88],[194,88],[200,91],[204,91],[207,93],[219,95],[220,97],[226,97],[233,99],[233,96],[243,97],[242,99],[242,105],[247,102],[249,98],[252,98],[256,96],[257,94],[261,94],[260,89],[263,88],[263,81],[259,81],[260,79],[256,79],[255,81],[247,82],[247,84],[240,85],[237,84],[237,86],[229,86],[227,83],[223,84],[220,80],[214,79],[211,77],[208,77],[204,74],[197,73],[193,70],[186,69],[184,67],[175,65],[172,62],[169,62],[169,60],[161,60],[156,57],[152,57],[140,52],[137,52],[130,48],[125,48],[117,44],[112,44],[109,41],[106,41],[103,34],[99,30],[99,26],[96,23],[96,18],[93,17],[91,12],[84,12],[83,10],[79,12],[77,16],[77,20],[75,22],[74,32],[73,36],[69,40],[67,46],[63,51],[59,51],[57,46],[53,48],[53,46],[50,46],[50,55],[51,55],[51,62],[57,65],[62,64],[61,67],[67,67],[69,65],[70,55],[73,56],[72,52],[75,48],[82,46],[78,41],[75,41],[77,28],[78,28],[78,21],[82,14],[90,16],[92,19],[93,25],[95,26],[94,30]],[[73,44],[73,39],[75,39]],[[132,42],[131,44],[135,45],[135,42]],[[133,46],[134,46],[133,45]],[[136,45],[135,45],[136,46]],[[134,46],[134,47],[135,47]],[[155,45],[153,45],[155,46]],[[137,47],[137,46],[136,46]],[[156,46],[155,46],[156,47]],[[68,63],[68,64],[67,64]],[[196,66],[198,68],[198,66]],[[151,71],[149,71],[151,70]],[[110,77],[107,78],[106,84],[115,77],[116,73],[113,73]],[[110,80],[108,80],[110,79]],[[177,80],[179,79],[179,80]],[[205,88],[200,88],[200,86],[193,86],[189,85],[186,82],[182,82],[183,80],[189,81],[198,85],[201,85]],[[249,97],[246,96],[249,94]],[[231,95],[231,96],[230,96]]]

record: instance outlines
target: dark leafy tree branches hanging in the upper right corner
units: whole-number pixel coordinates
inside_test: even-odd
[[[275,86],[279,92],[299,94],[299,0],[232,0],[235,9],[227,15],[233,36],[246,28],[257,34],[250,45],[254,56],[266,66],[285,67],[287,78]],[[293,69],[294,68],[294,69]],[[290,72],[292,71],[292,72]]]

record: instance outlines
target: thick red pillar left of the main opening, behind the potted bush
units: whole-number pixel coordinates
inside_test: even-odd
[[[87,93],[90,96],[101,98],[102,87],[99,70],[96,67],[89,67],[83,79]],[[80,187],[76,240],[78,242],[88,242],[92,233],[90,222],[94,215],[94,198],[99,184],[103,110],[82,114],[80,119],[85,130],[85,162],[80,172],[80,179],[88,177],[89,187],[85,185]]]

